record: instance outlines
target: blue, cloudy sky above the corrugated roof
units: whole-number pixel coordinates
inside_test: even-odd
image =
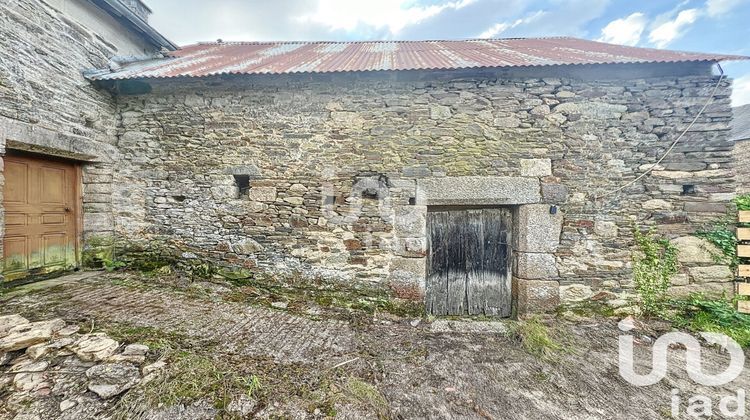
[[[574,36],[750,56],[750,0],[145,0],[179,45]],[[722,64],[734,106],[750,103],[750,61]]]

